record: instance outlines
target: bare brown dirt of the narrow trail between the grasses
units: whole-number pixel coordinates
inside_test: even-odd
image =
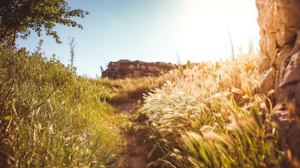
[[[121,103],[115,106],[119,110],[119,113],[129,114],[129,120],[134,120],[134,114],[136,114],[138,100],[131,100],[127,103]],[[141,100],[140,107],[143,105]],[[149,163],[146,158],[143,143],[136,139],[136,136],[126,136],[126,147],[124,147],[124,161],[120,168],[145,168]]]

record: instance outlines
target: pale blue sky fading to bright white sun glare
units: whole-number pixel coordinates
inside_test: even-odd
[[[74,37],[78,75],[101,76],[102,66],[120,59],[181,63],[219,61],[230,55],[229,31],[235,54],[249,39],[259,48],[258,12],[254,0],[68,0],[72,9],[87,10],[73,18],[83,29],[57,25],[62,44],[34,31],[16,44],[33,51],[40,39],[46,57],[56,54],[69,64],[68,37]],[[227,52],[226,52],[227,46]]]

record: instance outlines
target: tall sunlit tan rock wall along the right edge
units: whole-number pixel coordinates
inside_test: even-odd
[[[274,89],[273,105],[284,103],[286,111],[273,115],[283,137],[282,146],[300,156],[300,1],[256,0],[260,26],[259,64],[261,91]],[[289,117],[292,116],[292,117]],[[300,121],[300,120],[299,120]]]

